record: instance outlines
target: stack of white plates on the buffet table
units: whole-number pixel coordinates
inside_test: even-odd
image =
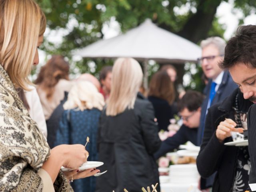
[[[169,167],[170,183],[195,183],[198,182],[199,173],[196,164],[171,165]]]

